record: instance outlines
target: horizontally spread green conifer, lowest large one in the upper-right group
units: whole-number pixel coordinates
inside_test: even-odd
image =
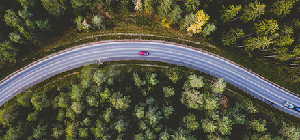
[[[253,51],[254,49],[268,48],[272,43],[272,38],[269,38],[267,36],[258,36],[257,38],[249,37],[245,40],[245,45],[247,46],[246,50],[251,51]]]

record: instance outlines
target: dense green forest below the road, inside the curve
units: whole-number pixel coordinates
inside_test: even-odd
[[[0,138],[299,139],[300,128],[225,88],[174,66],[85,66],[5,104]]]

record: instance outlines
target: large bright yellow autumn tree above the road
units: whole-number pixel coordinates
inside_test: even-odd
[[[209,16],[203,12],[203,10],[200,10],[195,14],[195,21],[193,24],[191,24],[187,31],[192,31],[195,33],[200,33],[202,31],[202,27],[208,22]]]

